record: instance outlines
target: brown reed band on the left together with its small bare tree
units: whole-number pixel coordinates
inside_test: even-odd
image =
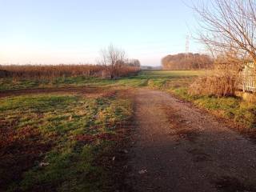
[[[0,78],[95,77],[118,78],[140,70],[138,59],[126,58],[124,50],[113,45],[101,52],[98,65],[0,65]]]

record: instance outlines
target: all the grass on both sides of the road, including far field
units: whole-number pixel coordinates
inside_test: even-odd
[[[128,135],[133,115],[133,99],[127,90],[138,87],[168,91],[222,118],[254,127],[254,104],[187,93],[191,82],[203,74],[143,70],[117,80],[0,80],[2,92],[79,86],[103,92],[92,96],[46,91],[0,98],[0,190],[113,191],[112,158]]]

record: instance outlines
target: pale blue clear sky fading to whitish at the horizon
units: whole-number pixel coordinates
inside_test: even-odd
[[[159,66],[186,51],[191,0],[0,0],[0,64],[95,63],[113,44]],[[202,52],[190,39],[190,52]]]

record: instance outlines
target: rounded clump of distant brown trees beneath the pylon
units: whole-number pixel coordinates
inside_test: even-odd
[[[210,68],[213,62],[207,54],[170,54],[162,58],[162,69],[200,70]]]

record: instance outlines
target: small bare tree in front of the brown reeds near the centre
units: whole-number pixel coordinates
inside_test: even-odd
[[[110,74],[110,78],[118,77],[118,71],[125,63],[126,53],[124,50],[119,49],[112,44],[105,49],[101,50],[100,64],[108,66],[107,70]]]

